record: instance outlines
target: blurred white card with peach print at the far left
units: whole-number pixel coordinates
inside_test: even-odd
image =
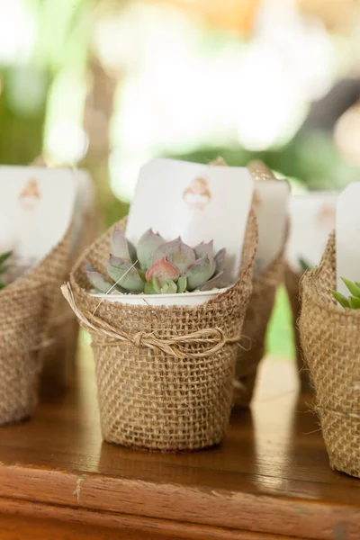
[[[65,168],[0,166],[0,252],[14,250],[34,265],[64,236],[76,197],[74,174]]]

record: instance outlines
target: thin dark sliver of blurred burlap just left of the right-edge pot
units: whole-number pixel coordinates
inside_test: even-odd
[[[300,272],[294,272],[289,265],[286,265],[284,275],[286,291],[293,313],[293,338],[295,342],[296,365],[298,368],[299,380],[301,383],[302,392],[311,392],[312,389],[309,369],[303,361],[302,345],[300,342],[300,333],[298,328],[298,320],[301,312],[299,284],[302,279],[302,274]]]

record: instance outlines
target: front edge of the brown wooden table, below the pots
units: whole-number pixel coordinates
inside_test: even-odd
[[[158,529],[166,533],[166,527],[181,523],[184,538],[232,540],[247,531],[247,536],[240,537],[272,540],[280,534],[282,538],[333,540],[338,527],[347,527],[344,537],[358,540],[356,531],[360,530],[360,511],[350,505],[1,464],[0,511],[12,508],[21,514],[41,509],[41,515],[46,510],[53,517],[96,518],[107,527],[125,522],[130,527],[136,520],[142,520],[142,527],[158,522]],[[196,527],[199,536],[189,536]],[[212,536],[206,536],[205,529]]]

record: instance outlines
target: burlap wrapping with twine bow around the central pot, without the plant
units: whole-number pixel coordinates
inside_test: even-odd
[[[125,221],[120,222],[121,227]],[[111,230],[85,250],[63,287],[92,335],[103,438],[176,452],[220,443],[251,294],[257,227],[249,220],[238,282],[196,307],[127,306],[86,293],[85,261],[104,273]]]

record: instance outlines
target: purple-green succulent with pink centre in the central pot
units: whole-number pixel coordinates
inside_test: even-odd
[[[223,285],[225,249],[214,255],[213,241],[196,247],[178,237],[166,242],[148,229],[132,246],[118,227],[112,229],[107,277],[86,265],[87,277],[100,293],[169,294],[209,291]]]

